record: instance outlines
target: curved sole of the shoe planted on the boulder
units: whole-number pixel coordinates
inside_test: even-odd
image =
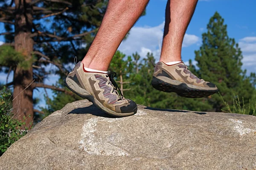
[[[95,107],[97,107],[98,109],[107,113],[108,115],[112,115],[112,116],[115,116],[115,117],[125,117],[125,116],[134,115],[137,112],[137,107],[134,108],[134,112],[130,112],[130,113],[118,113],[118,112],[115,112],[111,109],[108,109],[107,107],[103,106],[96,98],[94,98],[93,95],[90,95],[90,93],[87,92],[85,89],[82,89],[81,87],[79,87],[79,85],[76,84],[76,82],[73,81],[70,78],[65,79],[64,85],[68,89],[70,89],[72,92],[74,92],[76,95],[80,96],[81,98],[85,98],[88,101],[92,102]]]

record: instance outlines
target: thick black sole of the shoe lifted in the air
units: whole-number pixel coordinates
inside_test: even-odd
[[[177,95],[185,98],[203,98],[218,92],[218,89],[217,90],[193,89],[187,86],[186,83],[181,83],[179,85],[169,84],[156,77],[153,77],[151,84],[154,87],[154,89],[157,89],[163,92],[175,92],[177,93]]]

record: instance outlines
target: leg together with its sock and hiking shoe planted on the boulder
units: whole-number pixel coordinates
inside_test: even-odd
[[[65,85],[81,98],[116,117],[134,115],[137,104],[122,96],[106,72],[121,41],[143,13],[148,0],[109,0],[99,31],[82,62],[67,75]]]

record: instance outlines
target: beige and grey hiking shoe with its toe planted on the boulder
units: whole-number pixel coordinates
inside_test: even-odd
[[[137,104],[122,96],[122,93],[114,81],[115,72],[108,74],[100,72],[87,72],[84,64],[79,62],[67,75],[65,86],[81,98],[86,98],[94,106],[109,115],[123,117],[134,115],[137,112]],[[119,89],[121,96],[117,92]]]

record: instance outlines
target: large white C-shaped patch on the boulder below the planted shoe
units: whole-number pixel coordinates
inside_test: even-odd
[[[129,156],[129,154],[119,147],[116,147],[102,138],[96,138],[96,126],[98,121],[108,121],[108,118],[90,118],[83,126],[79,148],[92,155],[103,156]]]

